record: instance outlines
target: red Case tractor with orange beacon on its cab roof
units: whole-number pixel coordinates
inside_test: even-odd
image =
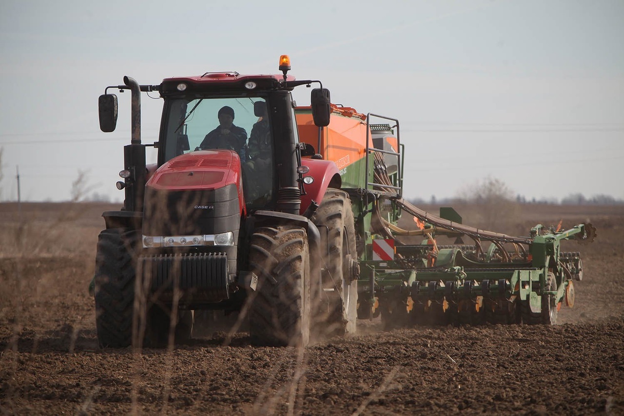
[[[102,347],[163,345],[191,336],[193,311],[238,312],[261,345],[306,345],[310,327],[355,329],[358,262],[348,194],[336,164],[298,139],[291,91],[310,87],[319,128],[329,91],[319,81],[206,72],[139,85],[124,77],[99,98],[114,131],[117,97],[132,92],[124,147],[125,202],[104,212],[94,276]],[[140,92],[163,99],[157,142],[140,133]],[[145,164],[145,147],[158,150]],[[302,156],[311,156],[302,158]]]

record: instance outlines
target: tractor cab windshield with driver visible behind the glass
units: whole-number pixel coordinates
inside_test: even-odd
[[[273,149],[266,101],[261,97],[172,99],[165,109],[162,162],[206,149],[230,149],[241,160],[248,208],[272,198]]]

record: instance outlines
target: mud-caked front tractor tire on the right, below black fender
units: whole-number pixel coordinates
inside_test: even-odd
[[[258,276],[251,294],[250,337],[256,345],[303,346],[310,340],[310,252],[304,229],[261,227],[249,262]]]

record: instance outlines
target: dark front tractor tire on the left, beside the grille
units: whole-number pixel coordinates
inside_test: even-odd
[[[100,232],[95,255],[95,327],[100,347],[132,344],[135,250],[139,233],[126,229]]]

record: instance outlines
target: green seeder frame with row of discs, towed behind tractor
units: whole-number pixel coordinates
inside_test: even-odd
[[[397,202],[406,208],[405,202]],[[404,324],[405,320],[431,324],[554,324],[560,303],[565,300],[568,306],[573,305],[572,282],[582,279],[582,262],[578,252],[562,252],[560,242],[592,241],[595,229],[591,224],[545,234],[545,228],[537,225],[531,230],[532,237],[511,237],[451,224],[411,207],[406,210],[427,217],[430,222],[424,230],[429,230],[426,235],[431,239],[436,232],[467,234],[476,244],[436,247],[427,244],[429,239],[423,244],[396,245],[390,260],[371,260],[372,256],[361,260],[360,281],[366,282],[359,286],[363,317],[381,313],[387,318],[384,321],[392,324]],[[484,251],[480,240],[486,238],[491,244]],[[505,242],[524,247],[510,255]]]

